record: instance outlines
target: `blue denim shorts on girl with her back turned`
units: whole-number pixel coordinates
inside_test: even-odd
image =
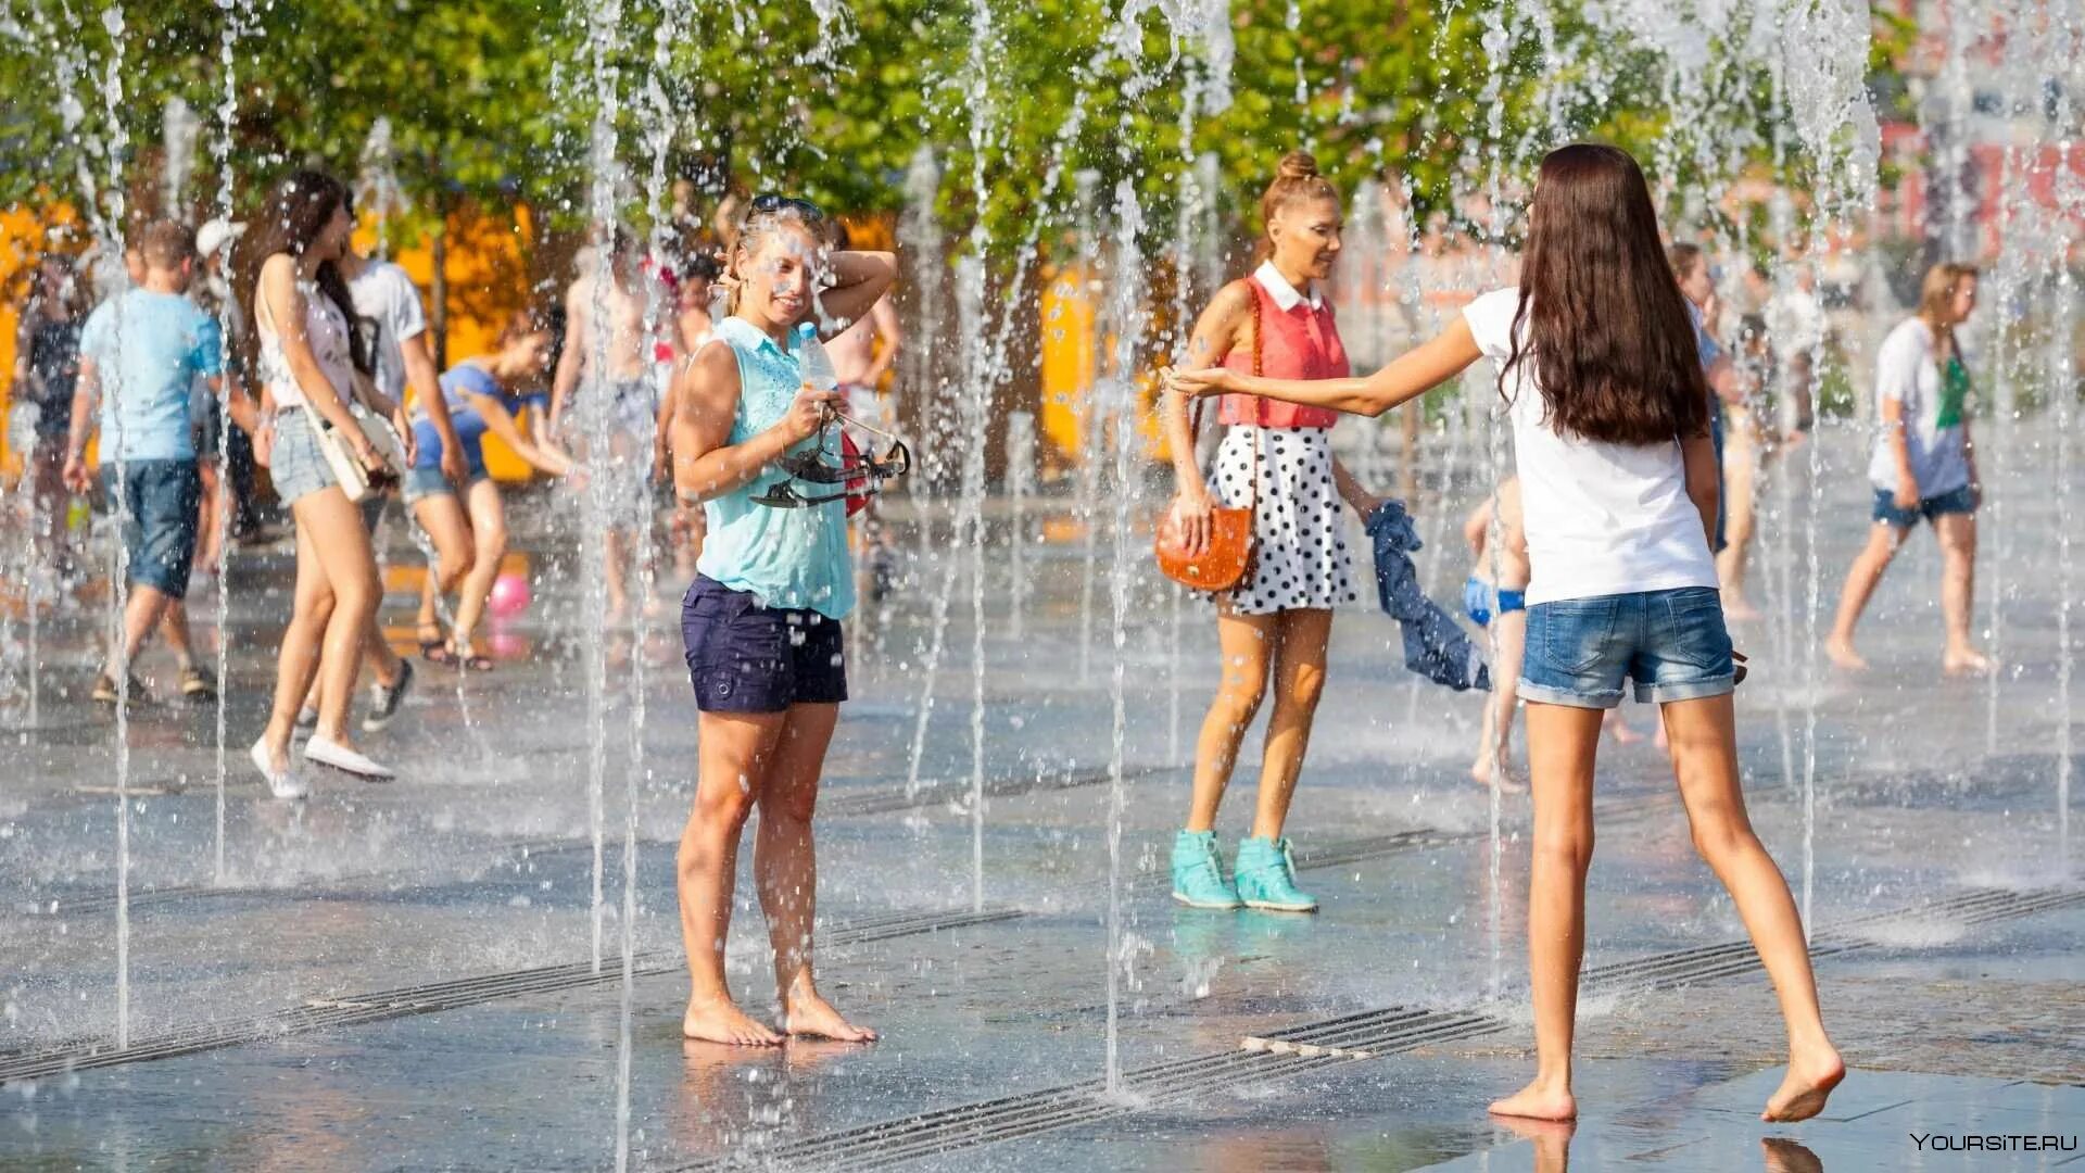
[[[1545,705],[1612,710],[1622,678],[1637,701],[1720,697],[1735,687],[1731,632],[1714,586],[1560,599],[1528,607],[1520,695]]]

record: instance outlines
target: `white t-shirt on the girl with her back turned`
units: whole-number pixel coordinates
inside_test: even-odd
[[[1503,365],[1520,290],[1493,290],[1462,315],[1478,349]],[[1528,536],[1528,605],[1637,591],[1716,586],[1701,511],[1687,497],[1678,440],[1608,445],[1555,434],[1530,359],[1514,367],[1514,463]]]

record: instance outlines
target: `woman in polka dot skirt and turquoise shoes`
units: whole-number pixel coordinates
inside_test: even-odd
[[[1339,192],[1297,150],[1282,159],[1259,213],[1264,263],[1251,278],[1224,286],[1201,313],[1184,365],[1222,357],[1247,374],[1257,367],[1280,378],[1343,378],[1347,351],[1332,305],[1318,290],[1339,257]],[[1366,516],[1376,499],[1332,457],[1334,411],[1228,397],[1213,486],[1195,461],[1184,401],[1166,397],[1163,411],[1180,484],[1172,524],[1186,547],[1199,551],[1209,541],[1216,503],[1251,505],[1255,536],[1253,572],[1216,601],[1224,676],[1195,743],[1195,795],[1172,852],[1174,900],[1195,908],[1316,912],[1318,902],[1297,891],[1282,824],[1324,691],[1332,607],[1355,601],[1353,553],[1339,507],[1345,501]],[[1226,881],[1216,808],[1270,678],[1274,714],[1253,833],[1238,843]]]

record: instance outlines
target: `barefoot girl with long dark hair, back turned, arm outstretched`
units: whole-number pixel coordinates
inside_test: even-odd
[[[1666,265],[1637,161],[1614,146],[1551,150],[1528,209],[1520,288],[1489,292],[1441,336],[1359,380],[1295,382],[1176,372],[1193,394],[1251,392],[1380,415],[1499,363],[1528,543],[1528,701],[1535,860],[1528,968],[1537,1073],[1491,1110],[1572,1119],[1572,1019],[1593,860],[1601,712],[1660,705],[1695,847],[1728,889],[1781,998],[1789,1071],[1762,1119],[1818,1115],[1845,1075],[1818,1012],[1789,885],[1745,816],[1737,683],[1716,595],[1716,453],[1687,303]]]

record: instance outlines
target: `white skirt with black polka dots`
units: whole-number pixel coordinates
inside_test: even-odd
[[[1253,576],[1230,593],[1241,616],[1301,607],[1341,607],[1357,599],[1345,507],[1332,480],[1326,428],[1253,428],[1232,424],[1216,451],[1216,497],[1243,507],[1253,499],[1253,445],[1259,449],[1259,538]]]

